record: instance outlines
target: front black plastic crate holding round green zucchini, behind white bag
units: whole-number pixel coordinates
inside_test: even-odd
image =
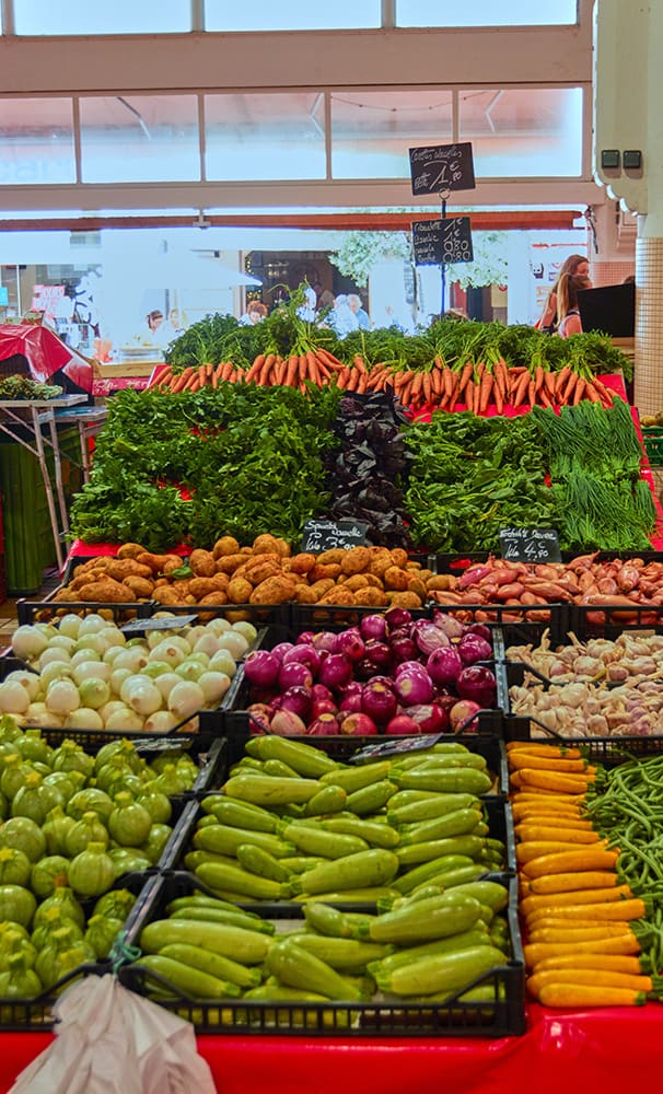
[[[143,905],[143,894],[150,891],[158,877],[159,873],[153,870],[146,871],[144,873],[124,874],[117,878],[113,885],[113,889],[127,888],[136,896],[136,904],[127,917],[127,923],[131,916],[138,913]],[[86,918],[91,915],[95,899],[81,901]],[[0,997],[0,1032],[35,1033],[37,1031],[47,1032],[53,1029],[56,1022],[53,1008],[62,991],[81,977],[104,976],[112,971],[112,957],[107,957],[104,961],[86,962],[77,966],[77,968],[72,969],[35,999],[18,999],[15,997],[3,999]]]

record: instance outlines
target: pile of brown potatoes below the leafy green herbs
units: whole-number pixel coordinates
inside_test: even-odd
[[[186,560],[152,555],[124,544],[116,558],[93,558],[77,566],[56,601],[175,604],[339,604],[420,608],[439,579],[397,547],[351,547],[321,555],[293,555],[284,539],[257,536],[240,547],[222,536],[212,550],[197,548]]]

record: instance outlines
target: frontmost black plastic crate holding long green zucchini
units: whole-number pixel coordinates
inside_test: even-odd
[[[160,997],[160,1004],[187,1019],[199,1033],[206,1034],[313,1035],[347,1038],[358,1036],[405,1038],[422,1035],[519,1036],[525,1032],[525,974],[517,923],[517,887],[515,878],[503,876],[500,880],[509,889],[507,918],[511,959],[472,985],[473,987],[478,984],[493,985],[498,994],[496,1002],[461,1003],[453,1000],[449,1003],[427,1004],[422,1001],[409,1002],[400,999],[395,1002],[393,997],[389,1000],[376,999],[367,1003],[333,1001],[305,1004],[271,1001],[261,1003],[235,999],[199,1001],[184,997],[170,988],[165,980],[133,964],[123,965],[118,970],[118,977],[125,987],[139,994],[149,994],[150,985],[158,990],[170,988],[172,998]],[[206,892],[205,886],[190,874],[161,875],[152,884],[149,903],[143,905],[141,913],[131,917],[126,932],[126,943],[136,945],[143,926],[162,918],[171,900],[195,891]],[[255,907],[264,918],[274,920],[276,924],[279,920],[303,921],[301,905],[247,907]],[[356,908],[369,912],[375,911],[373,905],[358,905]],[[499,999],[499,994],[503,998]]]

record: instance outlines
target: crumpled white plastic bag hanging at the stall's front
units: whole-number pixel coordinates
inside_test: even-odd
[[[54,1012],[56,1040],[10,1094],[217,1094],[193,1025],[114,976],[74,984]]]

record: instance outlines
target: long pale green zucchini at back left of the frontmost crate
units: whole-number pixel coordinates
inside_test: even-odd
[[[143,927],[139,945],[146,953],[159,953],[164,946],[185,942],[211,950],[241,964],[259,965],[271,945],[271,936],[229,923],[196,922],[186,919],[158,919]]]

